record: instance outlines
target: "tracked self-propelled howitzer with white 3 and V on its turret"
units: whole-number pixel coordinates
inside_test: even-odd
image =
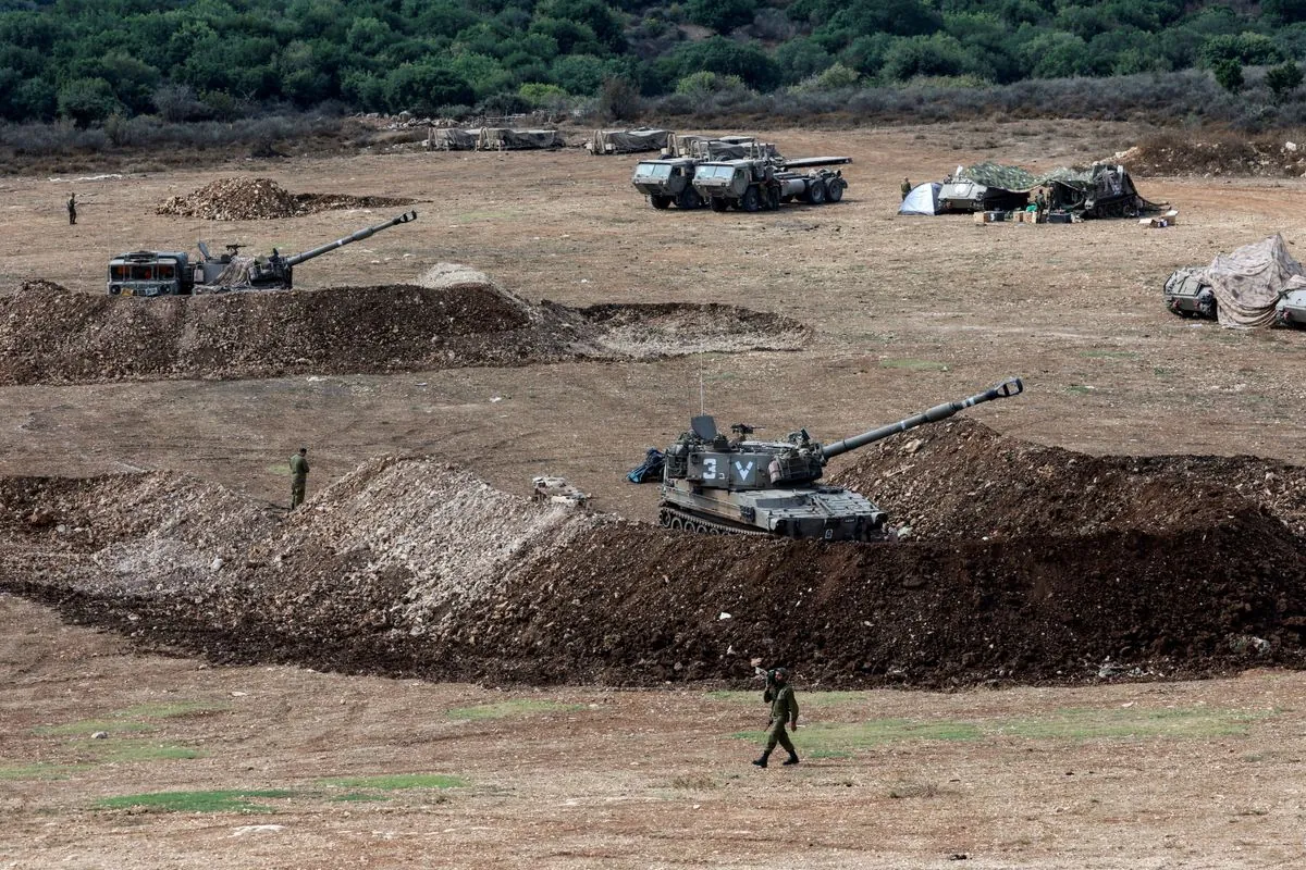
[[[666,450],[658,522],[709,535],[764,535],[827,541],[878,541],[893,536],[888,517],[863,496],[821,487],[825,463],[926,423],[994,399],[1019,395],[1020,378],[1003,381],[960,402],[935,406],[879,429],[821,445],[806,429],[784,441],[754,441],[754,428],[735,424],[730,440],[707,415],[693,417]]]

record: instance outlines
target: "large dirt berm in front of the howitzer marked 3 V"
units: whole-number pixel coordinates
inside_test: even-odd
[[[1075,471],[1020,471],[1038,455]],[[8,479],[0,586],[149,648],[509,683],[742,685],[754,660],[929,687],[1306,664],[1301,503],[1216,479],[1299,492],[1303,468],[1102,459],[969,423],[858,468],[913,481],[879,494],[918,540],[686,536],[424,458],[370,462],[285,520],[168,475]]]

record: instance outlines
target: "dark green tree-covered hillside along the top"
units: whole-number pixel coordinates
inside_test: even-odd
[[[0,116],[507,113],[599,97],[619,117],[639,95],[919,78],[1198,67],[1237,90],[1242,65],[1285,64],[1292,90],[1303,57],[1306,0],[0,0]]]

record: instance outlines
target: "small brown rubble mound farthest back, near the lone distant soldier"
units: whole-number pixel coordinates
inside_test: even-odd
[[[206,220],[273,220],[333,209],[385,209],[413,202],[343,193],[290,193],[272,179],[234,177],[218,179],[184,197],[170,197],[154,211]]]

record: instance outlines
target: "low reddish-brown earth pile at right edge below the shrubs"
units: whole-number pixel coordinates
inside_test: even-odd
[[[1168,133],[1115,154],[1136,175],[1306,176],[1306,147],[1235,136],[1198,141]]]

